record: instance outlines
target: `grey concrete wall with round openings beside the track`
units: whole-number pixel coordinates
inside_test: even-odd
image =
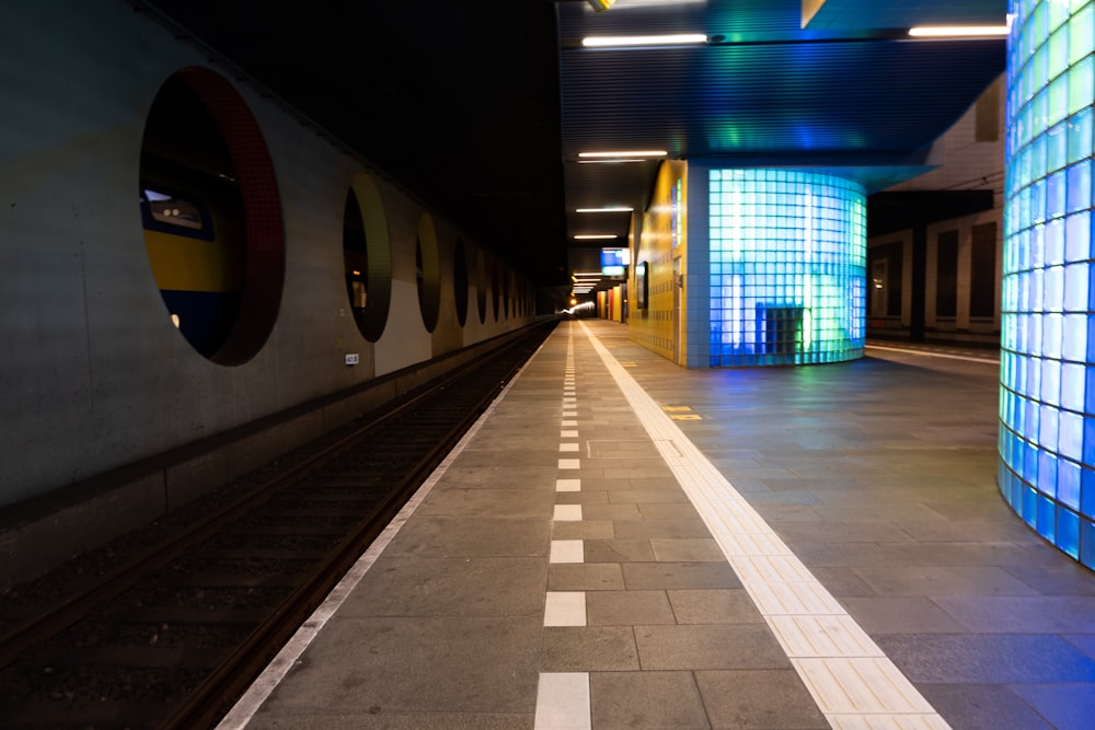
[[[172,326],[143,241],[146,117],[164,81],[188,66],[212,69],[242,95],[269,150],[284,215],[277,320],[257,355],[237,367],[206,359]],[[484,252],[463,235],[472,275],[460,326],[452,255],[461,232],[434,216],[441,305],[427,332],[415,240],[430,211],[373,171],[393,283],[390,321],[368,343],[348,313],[343,262],[346,194],[368,162],[123,0],[5,3],[0,107],[0,507],[349,392],[533,318],[510,308],[508,318],[479,322],[473,267]],[[348,367],[347,352],[360,363]],[[273,443],[328,421],[298,424]],[[267,451],[198,472],[229,477]],[[160,501],[150,498],[149,513]]]

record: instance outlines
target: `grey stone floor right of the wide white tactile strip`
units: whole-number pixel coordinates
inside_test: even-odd
[[[597,334],[954,728],[1095,727],[1095,576],[996,491],[998,366],[681,372]]]

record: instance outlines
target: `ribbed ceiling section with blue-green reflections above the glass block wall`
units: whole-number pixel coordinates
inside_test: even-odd
[[[563,157],[914,151],[1002,71],[1003,40],[701,46],[563,54]]]

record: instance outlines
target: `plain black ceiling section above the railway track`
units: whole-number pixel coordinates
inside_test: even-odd
[[[132,1],[534,280],[565,280],[552,2]]]

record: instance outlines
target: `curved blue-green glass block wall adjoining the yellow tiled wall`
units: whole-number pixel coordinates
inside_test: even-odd
[[[792,170],[708,173],[711,367],[863,357],[863,187]]]

